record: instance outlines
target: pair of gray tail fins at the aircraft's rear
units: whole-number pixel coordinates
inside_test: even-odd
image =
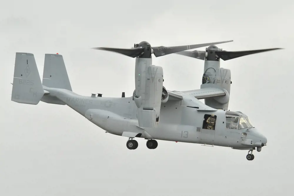
[[[42,83],[34,54],[17,52],[12,84],[11,100],[32,105],[37,105],[40,100],[65,105],[60,100],[47,95],[50,92],[45,91],[43,85],[72,91],[63,57],[59,54],[45,54]]]

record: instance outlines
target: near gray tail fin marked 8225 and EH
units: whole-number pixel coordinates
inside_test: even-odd
[[[44,89],[34,54],[17,52],[11,101],[37,105],[44,95]]]

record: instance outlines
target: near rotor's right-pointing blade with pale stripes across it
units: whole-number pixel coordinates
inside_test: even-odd
[[[190,49],[194,49],[194,48],[201,48],[204,46],[216,45],[216,44],[220,44],[220,43],[227,43],[227,42],[231,42],[231,41],[233,41],[233,40],[212,42],[212,43],[201,43],[201,44],[186,45],[186,46],[171,46],[171,47],[158,46],[158,47],[152,47],[152,49],[153,49],[154,55],[156,57],[159,57],[159,56],[164,56],[167,54],[177,53],[177,52],[190,50]]]

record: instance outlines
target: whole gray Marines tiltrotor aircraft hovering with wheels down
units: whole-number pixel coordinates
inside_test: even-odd
[[[74,93],[63,56],[58,53],[45,54],[41,82],[34,54],[17,52],[11,100],[33,105],[40,101],[68,105],[106,133],[127,137],[126,146],[131,150],[138,147],[134,138],[144,138],[149,149],[157,148],[156,140],[197,143],[248,150],[246,158],[253,160],[253,150],[260,152],[267,138],[258,132],[247,115],[228,110],[231,74],[229,69],[220,68],[220,58],[228,60],[279,48],[227,52],[215,46],[230,41],[173,47],[151,47],[142,41],[133,48],[94,48],[136,58],[133,96],[125,97],[123,92],[117,98]],[[204,52],[187,51],[205,46],[209,47]],[[204,60],[200,89],[166,90],[163,68],[152,65],[151,55],[160,57],[172,53]],[[204,99],[205,104],[200,99]]]

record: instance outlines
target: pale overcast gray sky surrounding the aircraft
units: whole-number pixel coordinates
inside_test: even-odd
[[[294,2],[3,1],[0,7],[0,195],[292,195]],[[15,52],[64,56],[73,91],[132,96],[135,59],[92,47],[177,46],[233,39],[223,50],[285,50],[221,61],[232,74],[230,110],[268,138],[247,151],[106,134],[63,105],[11,101]],[[199,48],[199,50],[205,48]],[[168,90],[200,88],[203,61],[153,58]]]

